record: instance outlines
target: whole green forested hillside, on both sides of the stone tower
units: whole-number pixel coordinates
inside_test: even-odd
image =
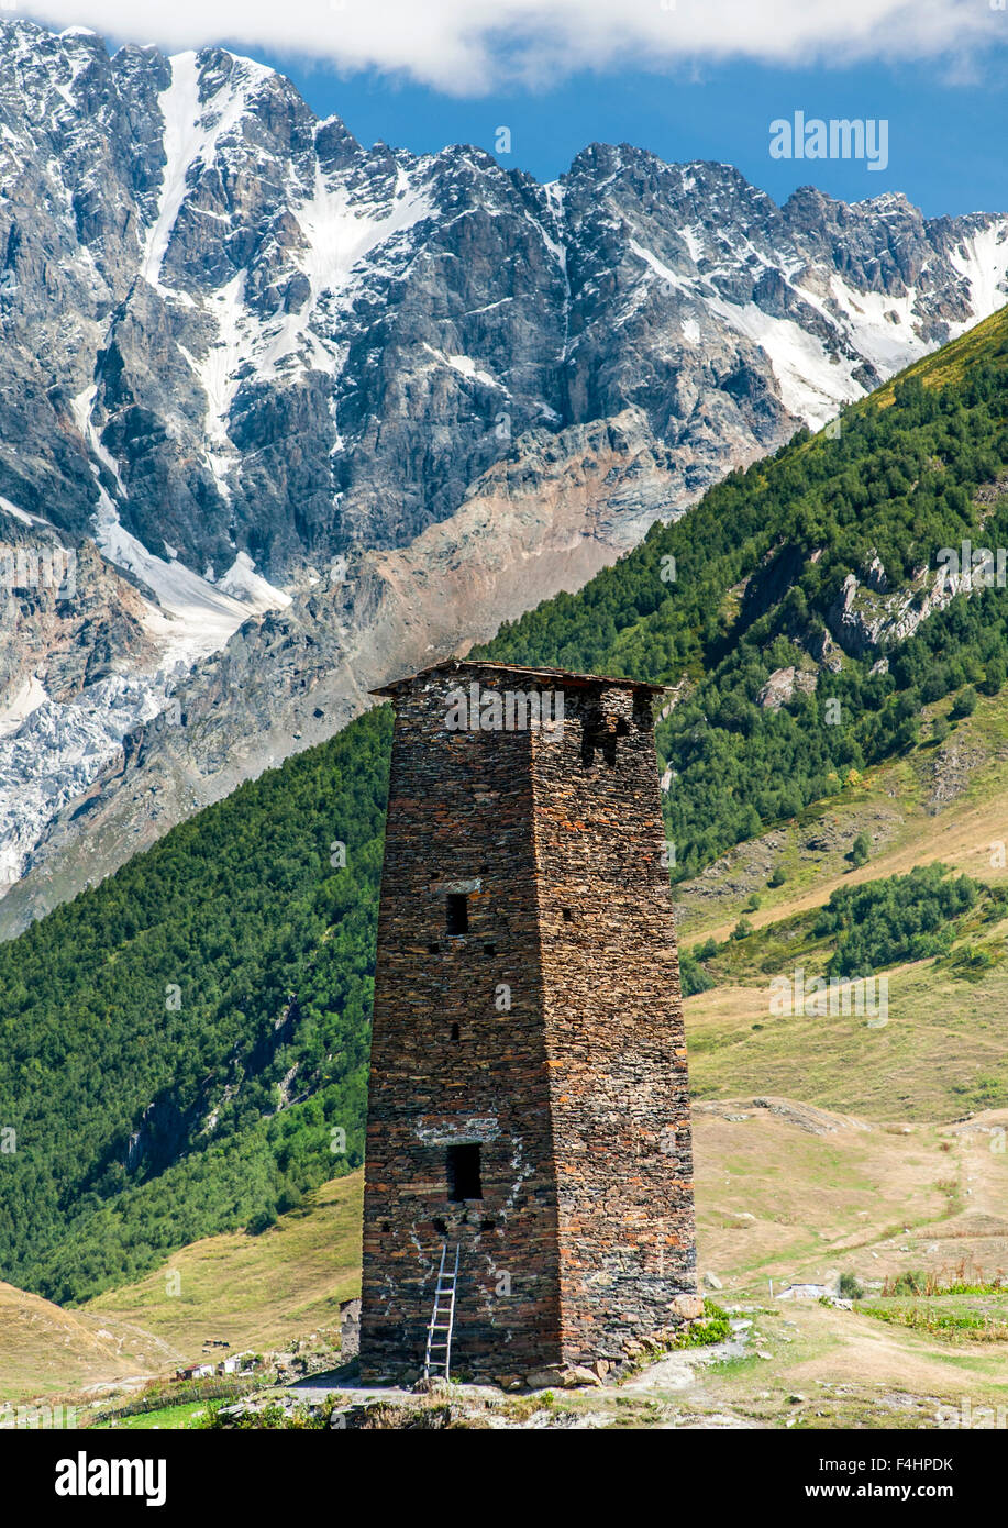
[[[932,614],[887,672],[817,662],[874,556],[919,599],[938,549],[1008,545],[1008,315],[959,345],[968,367],[955,345],[918,364],[486,649],[686,678],[658,729],[677,876],[912,747],[929,700],[1003,683],[1000,588]],[[764,709],[782,668],[817,688]],[[382,707],[0,947],[0,1279],[84,1299],[359,1164],[388,740]]]

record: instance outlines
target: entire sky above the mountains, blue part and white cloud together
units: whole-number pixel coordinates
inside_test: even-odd
[[[473,142],[553,179],[593,141],[719,159],[783,200],[1008,209],[1008,0],[14,0],[57,29],[289,73],[365,144]],[[884,60],[884,63],[883,63]],[[770,156],[770,124],[884,119],[889,162]]]

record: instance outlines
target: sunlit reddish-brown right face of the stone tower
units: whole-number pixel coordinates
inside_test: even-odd
[[[695,1302],[680,972],[651,697],[574,691],[533,738],[567,1363],[617,1360]]]

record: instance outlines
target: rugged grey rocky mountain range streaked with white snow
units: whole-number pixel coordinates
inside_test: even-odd
[[[565,503],[580,432],[620,419],[591,532],[615,556],[987,316],[1006,269],[1006,215],[777,208],[628,145],[544,186],[472,147],[367,148],[223,49],[0,18],[0,550],[102,555],[89,619],[0,590],[0,856],[29,865],[151,707],[292,597],[315,636],[284,686],[310,689],[373,614],[341,614],[334,559],[428,545],[496,469]],[[536,536],[486,547],[535,558],[541,597],[582,564]],[[247,727],[234,694],[218,717],[206,772]]]

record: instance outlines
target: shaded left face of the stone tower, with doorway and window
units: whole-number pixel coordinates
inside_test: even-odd
[[[425,683],[397,704],[363,1206],[371,1378],[420,1371],[444,1239],[461,1245],[454,1372],[559,1361],[531,736],[446,732],[452,688]],[[452,937],[446,897],[464,883],[478,883],[469,932]],[[447,1198],[452,1141],[481,1144],[481,1201]]]

